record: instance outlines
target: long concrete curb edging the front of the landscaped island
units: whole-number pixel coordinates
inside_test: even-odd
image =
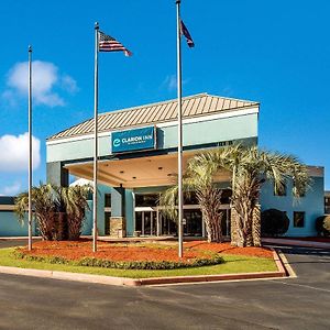
[[[277,272],[260,272],[260,273],[240,273],[240,274],[221,274],[221,275],[196,275],[196,276],[173,276],[173,277],[151,277],[151,278],[128,278],[114,277],[106,275],[91,275],[81,273],[43,271],[32,268],[19,268],[0,266],[0,273],[11,275],[33,276],[41,278],[53,278],[62,280],[84,282],[105,285],[120,286],[142,286],[142,285],[162,285],[162,284],[182,284],[182,283],[201,283],[201,282],[219,282],[219,280],[244,280],[244,279],[262,279],[286,276],[286,271],[275,250],[273,256],[277,266]]]

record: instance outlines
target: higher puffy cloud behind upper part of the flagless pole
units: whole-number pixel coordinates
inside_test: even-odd
[[[15,98],[28,95],[28,62],[16,63],[8,74],[2,97],[13,105]],[[78,90],[77,82],[68,75],[61,75],[57,66],[50,62],[32,62],[32,96],[37,105],[64,106],[64,99],[55,91],[59,87],[70,94]]]

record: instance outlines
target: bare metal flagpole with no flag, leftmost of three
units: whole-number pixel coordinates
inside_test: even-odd
[[[32,46],[29,46],[29,251],[32,250]]]

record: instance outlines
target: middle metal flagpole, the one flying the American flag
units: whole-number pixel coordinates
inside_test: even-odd
[[[99,62],[98,62],[99,23],[95,23],[95,73],[94,73],[94,194],[92,194],[92,251],[97,252],[98,239],[98,88],[99,88]]]

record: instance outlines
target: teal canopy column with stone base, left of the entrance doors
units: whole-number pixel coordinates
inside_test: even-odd
[[[116,238],[127,235],[125,189],[123,187],[111,189],[110,235]]]

